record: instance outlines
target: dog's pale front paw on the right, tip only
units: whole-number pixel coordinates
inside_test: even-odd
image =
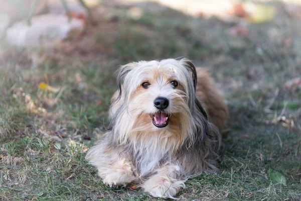
[[[142,185],[142,188],[154,197],[173,198],[185,188],[183,180],[176,180],[168,176],[153,176]]]

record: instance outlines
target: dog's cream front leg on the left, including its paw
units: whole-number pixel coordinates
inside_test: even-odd
[[[97,167],[103,183],[110,187],[124,187],[136,180],[130,162],[119,156],[114,149],[99,144],[90,149],[86,158]]]

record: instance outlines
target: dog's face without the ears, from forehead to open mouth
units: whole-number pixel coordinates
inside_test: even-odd
[[[139,71],[136,89],[129,97],[130,110],[138,110],[138,118],[142,118],[144,124],[152,123],[157,128],[164,128],[168,126],[169,118],[185,110],[183,85],[186,80],[181,75],[176,76],[167,66],[152,65]]]

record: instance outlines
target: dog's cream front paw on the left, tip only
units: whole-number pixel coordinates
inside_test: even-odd
[[[125,187],[133,180],[135,180],[134,175],[129,175],[125,171],[116,171],[106,174],[102,181],[110,187]]]

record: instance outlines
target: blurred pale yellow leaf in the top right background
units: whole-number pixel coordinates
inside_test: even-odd
[[[271,6],[253,5],[251,12],[246,16],[250,23],[260,24],[271,21],[275,16],[275,10]]]

